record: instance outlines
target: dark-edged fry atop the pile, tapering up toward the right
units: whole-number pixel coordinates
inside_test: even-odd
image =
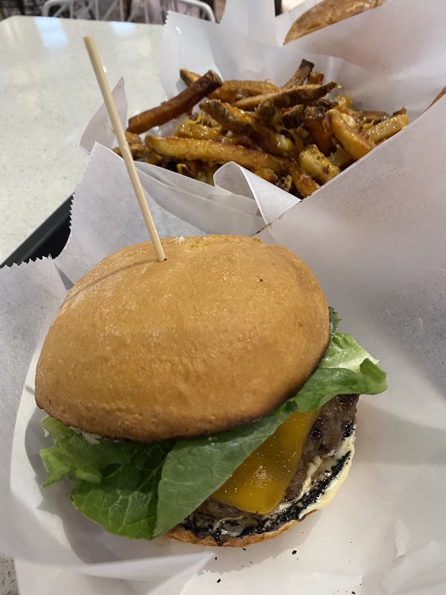
[[[281,116],[279,108],[291,108],[295,105],[316,101],[337,87],[339,87],[338,83],[331,81],[323,85],[304,84],[300,87],[287,89],[263,101],[256,109],[256,114],[263,123],[274,124]]]

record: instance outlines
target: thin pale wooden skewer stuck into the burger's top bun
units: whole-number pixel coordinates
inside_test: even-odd
[[[121,149],[121,155],[123,156],[125,167],[127,167],[131,185],[133,186],[139,208],[141,209],[147,230],[149,231],[153,248],[155,248],[156,258],[158,258],[160,262],[165,261],[166,255],[162,248],[161,242],[159,241],[158,231],[156,231],[155,223],[153,223],[152,214],[150,213],[149,205],[146,201],[146,195],[138,177],[127,140],[125,139],[124,129],[118,116],[116,105],[111,94],[110,87],[108,86],[108,81],[103,71],[102,62],[100,61],[98,50],[96,49],[95,40],[91,35],[86,35],[84,37],[84,43],[87,48],[90,61],[92,62],[93,70],[95,71],[96,79],[98,80],[100,91],[102,92],[103,101],[106,105],[114,133],[118,140],[119,148]]]

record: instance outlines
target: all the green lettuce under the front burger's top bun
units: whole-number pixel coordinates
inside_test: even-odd
[[[337,394],[378,394],[385,372],[348,334],[332,336],[319,367],[299,392],[252,424],[193,440],[158,444],[87,441],[78,431],[46,417],[54,446],[40,451],[48,479],[73,482],[71,500],[109,533],[151,539],[183,521],[233,474],[280,424],[297,411],[314,411]]]

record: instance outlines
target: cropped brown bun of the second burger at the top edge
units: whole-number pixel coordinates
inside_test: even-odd
[[[382,0],[323,0],[300,15],[291,25],[284,43],[323,29],[328,25],[353,17],[369,8],[382,4]]]

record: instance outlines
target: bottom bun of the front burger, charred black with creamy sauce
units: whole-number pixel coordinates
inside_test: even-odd
[[[258,524],[243,528],[237,519],[203,518],[192,513],[165,537],[197,546],[246,547],[279,536],[312,512],[327,506],[347,478],[354,455],[355,427],[344,436],[336,452],[316,456],[310,463],[304,486],[293,502],[282,502],[259,518]],[[220,527],[215,531],[215,527]],[[234,535],[231,535],[234,533]]]

